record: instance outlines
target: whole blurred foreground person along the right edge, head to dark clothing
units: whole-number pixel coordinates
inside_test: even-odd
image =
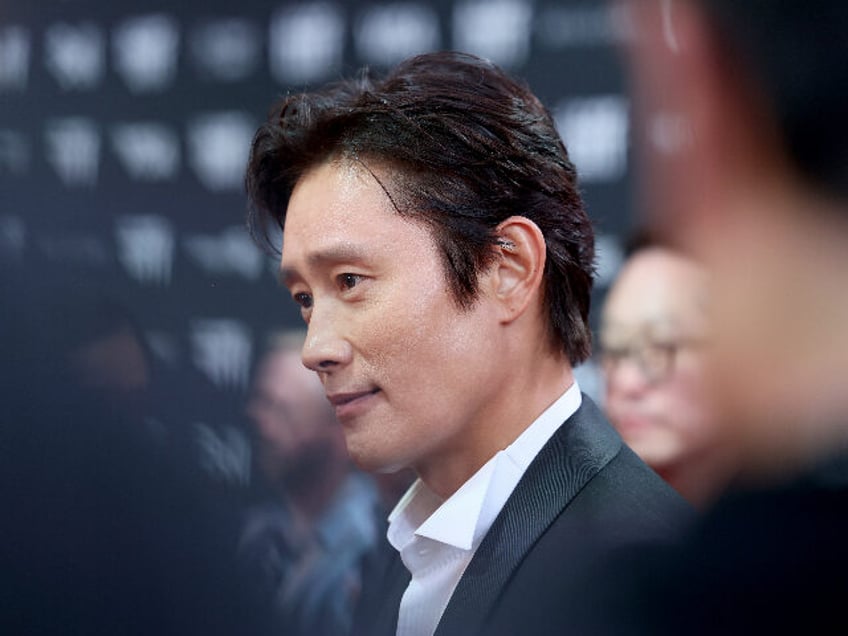
[[[624,621],[844,633],[848,5],[626,5],[655,223],[710,271],[710,377],[746,478]],[[663,123],[664,122],[664,123]]]

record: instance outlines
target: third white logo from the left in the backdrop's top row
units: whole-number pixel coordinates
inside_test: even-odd
[[[166,88],[177,70],[177,22],[164,14],[125,20],[115,29],[115,69],[134,93]]]

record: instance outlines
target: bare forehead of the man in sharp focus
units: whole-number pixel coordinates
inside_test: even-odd
[[[389,177],[380,177],[385,183]],[[353,160],[319,164],[295,186],[283,227],[282,273],[322,261],[397,255],[432,244],[428,229],[399,214],[383,186]]]

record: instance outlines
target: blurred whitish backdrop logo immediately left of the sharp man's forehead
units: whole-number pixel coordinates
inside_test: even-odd
[[[241,226],[217,236],[196,235],[185,240],[189,256],[210,274],[238,274],[256,280],[264,269],[264,256]]]

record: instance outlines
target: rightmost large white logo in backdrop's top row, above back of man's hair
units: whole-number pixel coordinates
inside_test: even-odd
[[[464,0],[453,11],[453,43],[495,64],[515,67],[530,53],[533,7],[526,0]]]

